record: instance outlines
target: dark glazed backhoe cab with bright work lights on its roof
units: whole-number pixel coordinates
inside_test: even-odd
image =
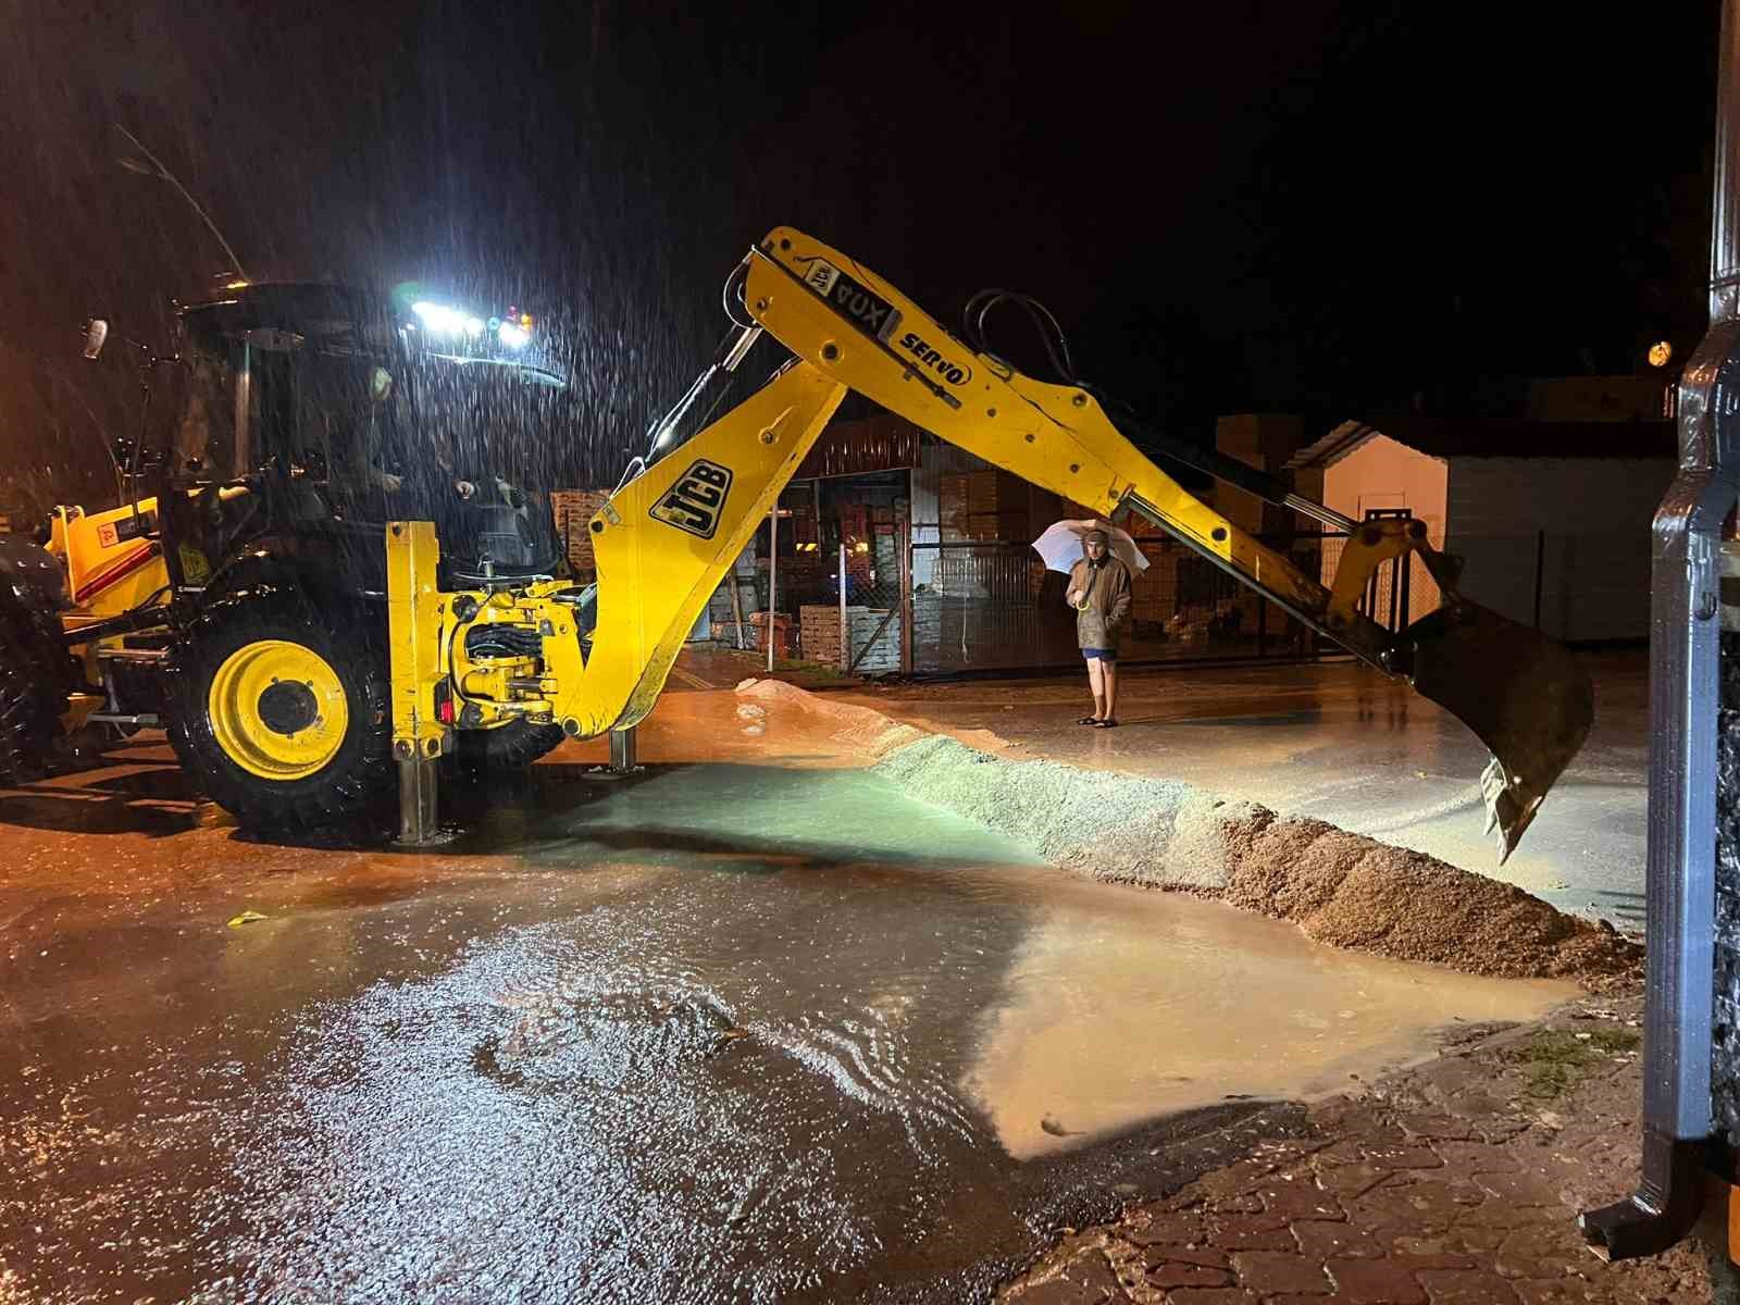
[[[158,496],[177,588],[258,545],[381,592],[388,520],[435,522],[444,583],[555,569],[536,480],[566,383],[527,357],[529,318],[280,284],[188,306],[181,331]]]

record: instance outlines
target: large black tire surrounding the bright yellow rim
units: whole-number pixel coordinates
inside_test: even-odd
[[[341,689],[345,727],[336,733],[331,755],[308,774],[273,778],[231,755],[224,736],[235,738],[238,729],[245,734],[251,726],[245,712],[226,712],[223,727],[214,722],[214,679],[235,665],[235,654],[268,640],[299,646],[320,658]],[[397,793],[397,780],[385,644],[379,611],[318,602],[296,590],[247,590],[200,612],[176,642],[169,675],[169,741],[195,786],[244,828],[270,832],[318,830],[388,802]],[[264,701],[261,696],[259,703]],[[256,710],[264,712],[263,706]],[[256,734],[264,729],[258,722],[251,727]]]

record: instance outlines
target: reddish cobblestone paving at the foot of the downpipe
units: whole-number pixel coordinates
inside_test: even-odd
[[[1576,1215],[1637,1178],[1636,1000],[1446,1047],[1312,1110],[1112,1225],[1067,1230],[1021,1305],[1569,1305],[1710,1300],[1702,1253],[1608,1265]],[[1470,1030],[1474,1034],[1477,1030]],[[1488,1032],[1488,1030],[1479,1030]]]

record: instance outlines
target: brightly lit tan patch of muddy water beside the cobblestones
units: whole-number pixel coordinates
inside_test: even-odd
[[[1333,1093],[1430,1054],[1436,1030],[1576,995],[1321,947],[1181,894],[1063,880],[1039,896],[964,1079],[1016,1159],[1234,1096]]]

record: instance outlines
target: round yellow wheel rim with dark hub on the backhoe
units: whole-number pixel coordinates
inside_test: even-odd
[[[205,699],[224,755],[263,780],[304,780],[338,755],[350,726],[345,686],[303,644],[244,644],[212,675]]]

